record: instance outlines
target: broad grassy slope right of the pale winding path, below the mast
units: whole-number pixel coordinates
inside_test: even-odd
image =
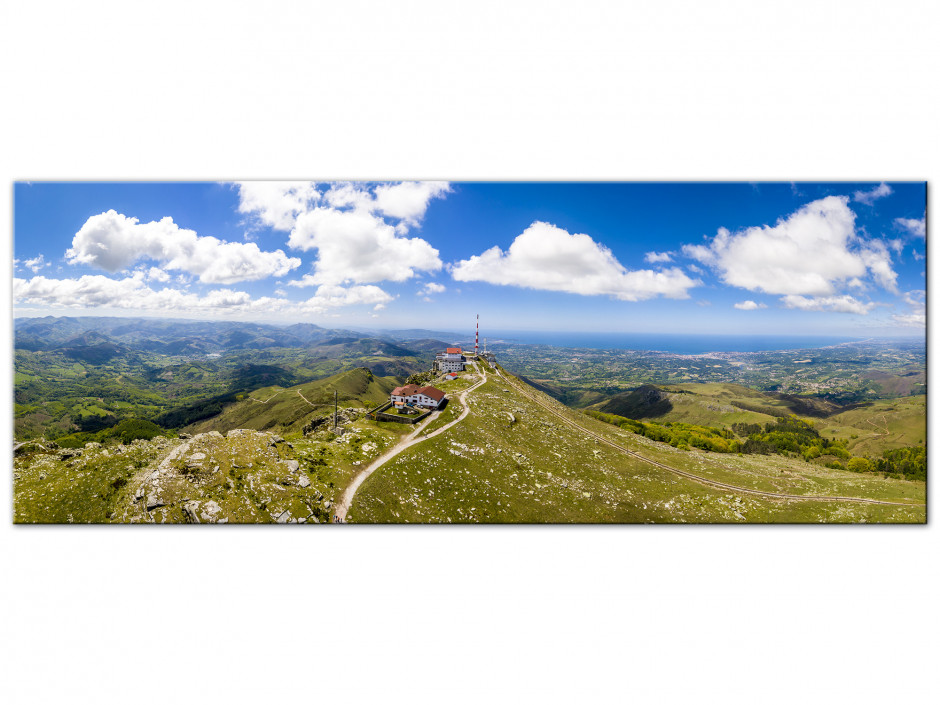
[[[509,391],[506,391],[506,390]],[[802,461],[683,452],[566,409],[582,426],[677,468],[770,491],[924,500],[924,483]],[[920,508],[784,501],[711,489],[583,438],[503,381],[470,397],[473,413],[373,474],[353,522],[922,522]],[[512,413],[516,422],[511,423]]]

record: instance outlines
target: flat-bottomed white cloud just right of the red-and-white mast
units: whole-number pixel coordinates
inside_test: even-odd
[[[572,235],[540,221],[526,228],[506,252],[492,247],[457,262],[451,273],[457,281],[607,295],[622,301],[654,296],[685,299],[688,290],[699,284],[677,267],[658,272],[627,270],[607,247],[589,235]]]

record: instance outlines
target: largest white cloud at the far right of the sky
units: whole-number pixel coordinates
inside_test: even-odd
[[[813,201],[773,226],[737,233],[720,228],[706,244],[682,251],[713,267],[725,284],[749,291],[826,296],[869,272],[896,291],[890,253],[883,242],[856,234],[855,213],[844,196]]]

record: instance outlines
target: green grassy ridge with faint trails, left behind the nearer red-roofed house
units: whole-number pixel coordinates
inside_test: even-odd
[[[325,379],[293,387],[271,386],[238,395],[238,400],[217,416],[198,421],[187,433],[226,432],[234,428],[271,431],[282,435],[301,433],[304,425],[333,411],[333,392],[341,407],[373,408],[389,398],[399,381],[376,377],[360,367]]]

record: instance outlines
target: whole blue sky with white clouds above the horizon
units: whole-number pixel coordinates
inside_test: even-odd
[[[918,183],[17,183],[17,316],[923,335]]]

